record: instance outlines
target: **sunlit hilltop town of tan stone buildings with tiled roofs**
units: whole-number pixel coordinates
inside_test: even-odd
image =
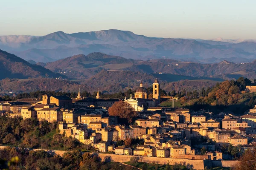
[[[160,107],[160,82],[149,97],[143,82],[134,96],[101,99],[80,95],[42,96],[2,102],[3,116],[57,122],[59,133],[90,145],[99,152],[178,159],[230,160],[256,144],[256,108],[242,116],[232,112]],[[175,97],[169,97],[176,100]],[[136,113],[131,122],[108,113],[116,103],[127,103]],[[122,108],[125,109],[125,108]],[[113,110],[113,109],[112,109]],[[137,143],[132,140],[137,141]]]

